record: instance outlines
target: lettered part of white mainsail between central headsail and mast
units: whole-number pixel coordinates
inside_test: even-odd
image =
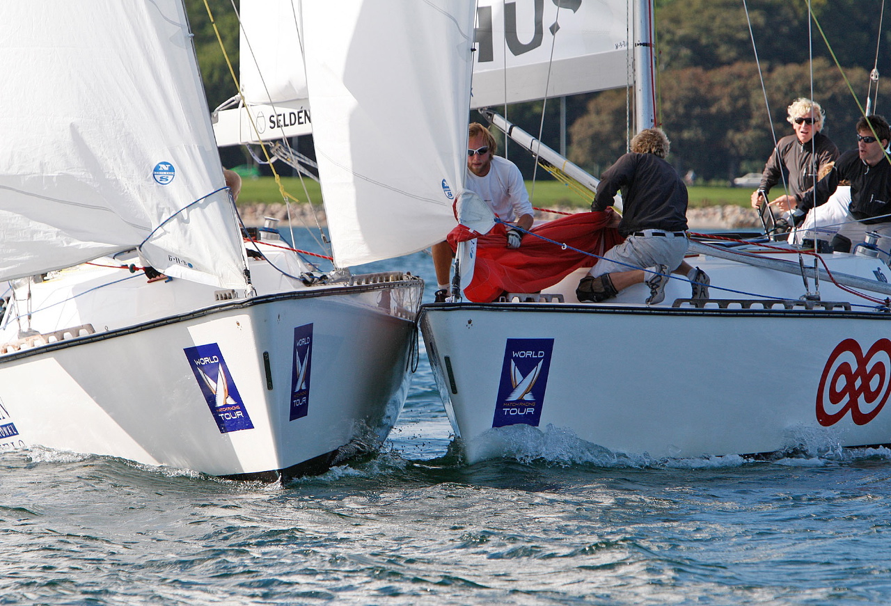
[[[478,0],[474,108],[633,81],[631,0]]]

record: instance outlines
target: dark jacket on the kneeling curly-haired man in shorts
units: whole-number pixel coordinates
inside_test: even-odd
[[[623,238],[643,229],[687,229],[687,186],[674,167],[651,153],[626,153],[607,168],[597,185],[592,210],[605,210],[622,190]]]

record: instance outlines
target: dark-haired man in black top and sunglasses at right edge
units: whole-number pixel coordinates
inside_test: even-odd
[[[889,141],[891,127],[881,116],[857,120],[857,149],[843,153],[829,175],[798,197],[795,223],[800,223],[808,210],[826,203],[839,182],[846,180],[851,184],[851,205],[846,222],[832,239],[833,250],[849,252],[854,244],[866,241],[866,232],[891,236]],[[888,250],[889,246],[879,244],[879,248]]]

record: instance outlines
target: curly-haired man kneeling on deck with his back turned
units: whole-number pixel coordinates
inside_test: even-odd
[[[707,299],[708,276],[684,263],[687,252],[687,187],[666,162],[668,137],[660,128],[645,128],[631,141],[631,152],[607,168],[597,186],[592,210],[613,204],[623,192],[624,214],[617,227],[625,242],[607,250],[578,284],[579,301],[615,297],[633,284],[647,283],[647,305],[665,299],[672,271],[687,274],[693,298]]]

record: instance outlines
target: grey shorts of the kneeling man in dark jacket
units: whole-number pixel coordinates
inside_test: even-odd
[[[645,229],[642,232],[644,235],[629,235],[625,242],[607,250],[589,274],[596,277],[657,265],[664,265],[668,267],[668,271],[674,271],[683,263],[688,246],[687,238],[684,235],[672,236],[672,232],[668,232],[669,235],[653,235],[655,232],[666,233],[662,230]]]

